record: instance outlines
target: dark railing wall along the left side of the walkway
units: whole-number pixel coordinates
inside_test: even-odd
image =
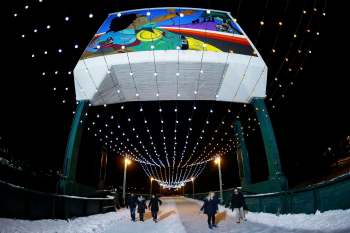
[[[0,217],[67,219],[103,213],[113,204],[113,198],[43,193],[0,181]]]

